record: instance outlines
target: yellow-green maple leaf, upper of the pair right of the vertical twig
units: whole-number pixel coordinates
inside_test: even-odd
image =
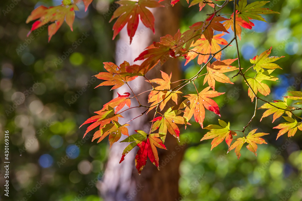
[[[262,52],[260,54],[260,56],[257,55],[253,59],[250,59],[250,62],[252,64],[254,64],[254,70],[260,71],[263,68],[267,68],[267,69],[280,68],[280,69],[282,69],[277,64],[273,64],[271,62],[277,61],[279,58],[283,58],[284,56],[281,56],[281,57],[276,57],[276,56],[268,57],[268,55],[271,54],[271,48],[268,49],[268,50],[266,50],[266,51],[264,51],[264,52]]]

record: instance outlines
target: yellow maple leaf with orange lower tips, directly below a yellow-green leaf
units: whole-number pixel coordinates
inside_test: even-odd
[[[277,77],[270,75],[271,72],[273,72],[274,70],[275,69],[271,69],[271,70],[267,70],[267,71],[263,71],[263,72],[258,71],[254,78],[247,79],[249,85],[252,87],[252,89],[256,95],[257,95],[258,91],[264,96],[267,96],[269,93],[271,93],[269,86],[265,83],[262,83],[262,81],[263,80],[271,80],[271,81],[278,80]],[[253,94],[253,92],[250,88],[248,90],[248,94],[253,102],[255,95]]]

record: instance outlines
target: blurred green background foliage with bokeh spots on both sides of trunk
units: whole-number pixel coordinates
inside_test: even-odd
[[[110,87],[94,90],[100,81],[92,77],[104,71],[102,62],[114,61],[113,24],[108,23],[112,2],[95,0],[86,13],[80,6],[82,11],[77,13],[74,31],[64,23],[49,43],[46,27],[26,37],[31,23],[25,24],[25,20],[34,6],[57,5],[60,1],[14,2],[18,3],[11,6],[11,0],[2,1],[2,9],[7,13],[2,11],[0,22],[0,95],[3,97],[0,139],[9,130],[12,167],[8,200],[100,200],[97,185],[103,176],[108,143],[91,142],[89,135],[82,139],[85,128],[79,126],[112,97]],[[187,8],[185,1],[180,3],[184,5],[181,31],[204,19],[210,9],[206,6],[198,12],[197,5]],[[253,20],[256,27],[243,30],[239,46],[244,69],[251,66],[249,58],[271,46],[271,55],[286,56],[276,62],[283,68],[274,72],[280,82],[267,82],[272,92],[267,100],[280,99],[287,90],[300,90],[301,4],[298,0],[274,0],[267,6],[281,14],[265,16],[268,24]],[[10,11],[9,6],[13,7]],[[232,3],[224,13],[231,12]],[[223,53],[222,59],[226,58],[236,58],[234,46]],[[197,61],[191,61],[183,66],[184,77],[191,77],[199,68]],[[237,76],[232,82],[235,84],[217,83],[216,90],[226,93],[214,100],[221,108],[221,119],[230,121],[233,130],[241,130],[250,120],[255,105],[247,96],[242,78]],[[203,80],[195,84],[201,89]],[[190,85],[185,88],[186,93],[194,90]],[[272,124],[272,118],[267,117],[259,123],[261,112],[257,111],[248,129],[258,128],[258,132],[271,135],[264,137],[268,144],[259,145],[257,157],[244,146],[238,160],[233,151],[226,154],[226,143],[210,151],[211,140],[200,142],[207,130],[193,122],[187,130],[182,128],[181,139],[191,140],[180,167],[178,200],[295,201],[302,198],[300,133],[292,141],[285,135],[275,140],[277,130],[272,127],[282,120]],[[217,122],[218,116],[207,112],[204,125]],[[0,145],[2,153],[3,140]],[[72,152],[70,156],[69,152]],[[0,157],[5,160],[3,154]],[[0,188],[4,184],[2,171],[3,168]],[[4,198],[3,190],[1,193]]]

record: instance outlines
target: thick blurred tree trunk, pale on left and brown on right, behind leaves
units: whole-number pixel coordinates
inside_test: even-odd
[[[163,5],[166,5],[166,8],[152,10],[155,17],[155,36],[140,22],[132,44],[129,45],[127,31],[125,29],[121,31],[116,48],[117,65],[124,60],[128,61],[130,65],[133,64],[131,62],[143,52],[144,48],[149,46],[153,41],[159,41],[160,36],[165,36],[166,34],[174,36],[179,27],[179,7],[175,6],[172,8],[167,1],[163,2]],[[180,66],[177,59],[169,59],[162,67],[153,68],[146,74],[146,77],[148,79],[161,77],[159,70],[167,74],[172,72],[172,82],[181,79]],[[149,83],[141,77],[130,82],[129,85],[136,95],[150,89]],[[131,92],[131,90],[126,85],[115,90],[114,97],[117,96],[116,92],[122,94]],[[147,105],[148,93],[144,93],[139,97],[140,103]],[[137,101],[131,99],[131,107],[137,105]],[[133,108],[127,110],[122,113],[124,118],[120,120],[122,123],[126,123],[139,116],[145,109]],[[153,119],[153,114],[151,111],[148,115],[143,115],[131,121],[131,126],[128,126],[129,134],[133,134],[133,130],[144,130],[149,133],[150,121]],[[148,159],[141,175],[137,173],[134,163],[137,149],[130,151],[126,155],[125,160],[119,164],[121,153],[126,146],[126,143],[115,143],[110,149],[104,179],[99,187],[102,197],[106,201],[174,201],[178,199],[178,168],[184,149],[179,149],[180,146],[178,146],[177,139],[171,134],[167,134],[165,146],[168,150],[158,149],[160,171]]]

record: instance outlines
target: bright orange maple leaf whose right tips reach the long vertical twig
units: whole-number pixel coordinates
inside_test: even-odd
[[[213,90],[215,90],[215,80],[221,83],[234,84],[230,81],[230,78],[223,73],[235,71],[236,69],[238,69],[234,66],[230,66],[230,64],[236,60],[237,59],[226,59],[223,61],[216,60],[212,64],[208,63],[207,74],[204,77],[204,84],[208,83]]]

